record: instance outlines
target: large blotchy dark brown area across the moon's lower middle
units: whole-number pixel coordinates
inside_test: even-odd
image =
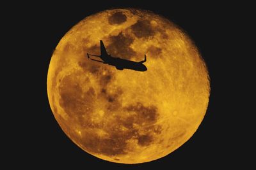
[[[106,91],[108,94],[108,91]],[[111,103],[111,105],[116,102]],[[158,125],[154,125],[157,121],[159,113],[157,113],[155,106],[144,106],[142,103],[136,103],[127,108],[122,108],[127,111],[134,112],[135,115],[130,117],[122,117],[122,113],[116,117],[115,121],[111,121],[108,125],[105,125],[104,129],[99,127],[108,134],[108,136],[98,136],[92,131],[88,131],[83,137],[84,147],[86,150],[93,153],[100,153],[108,156],[122,155],[127,153],[127,141],[135,138],[138,140],[138,145],[148,146],[154,141],[154,132],[157,129],[161,131]],[[140,134],[139,129],[134,127],[134,124],[152,124],[150,129],[143,130],[143,134]],[[127,131],[122,131],[122,128],[126,128]],[[143,127],[143,126],[141,126]],[[90,138],[88,138],[90,136]]]

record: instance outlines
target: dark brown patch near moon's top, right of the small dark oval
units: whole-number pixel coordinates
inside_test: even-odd
[[[138,20],[135,24],[131,25],[131,29],[138,38],[149,38],[155,34],[149,20]]]

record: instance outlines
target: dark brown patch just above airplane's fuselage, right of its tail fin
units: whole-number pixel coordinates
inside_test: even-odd
[[[113,57],[120,57],[122,59],[131,59],[136,54],[130,47],[134,38],[120,32],[117,36],[109,36],[111,43],[106,47],[108,53]]]

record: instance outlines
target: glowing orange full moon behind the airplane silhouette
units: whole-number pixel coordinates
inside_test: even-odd
[[[100,40],[113,57],[147,71],[88,60]],[[173,152],[195,133],[209,102],[209,75],[195,43],[170,20],[138,9],[106,10],[60,40],[47,75],[49,103],[61,129],[100,159],[138,164]]]

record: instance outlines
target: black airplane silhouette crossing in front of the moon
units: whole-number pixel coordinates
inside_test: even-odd
[[[101,60],[91,59],[90,55],[95,57],[100,57]],[[104,43],[100,40],[100,55],[94,55],[87,53],[87,57],[89,60],[94,60],[97,62],[102,62],[103,64],[109,64],[111,66],[115,66],[116,69],[123,70],[123,69],[133,69],[136,71],[147,71],[147,67],[143,64],[143,62],[147,61],[146,54],[144,60],[140,62],[135,62],[131,60],[120,59],[118,57],[112,57],[106,50]]]

